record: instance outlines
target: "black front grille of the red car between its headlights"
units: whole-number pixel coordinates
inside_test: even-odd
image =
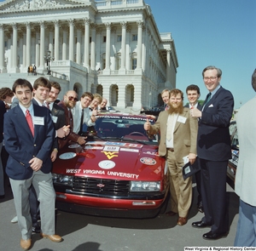
[[[130,182],[126,180],[104,180],[74,177],[73,192],[109,196],[128,196]]]

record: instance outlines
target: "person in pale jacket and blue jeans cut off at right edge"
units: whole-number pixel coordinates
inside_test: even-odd
[[[256,69],[252,77],[256,91]],[[239,161],[236,169],[235,191],[240,197],[239,220],[236,230],[236,247],[256,247],[256,97],[241,106],[237,115]]]

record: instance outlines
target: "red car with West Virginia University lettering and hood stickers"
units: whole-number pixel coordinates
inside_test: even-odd
[[[146,116],[102,113],[88,141],[61,149],[52,174],[58,209],[80,214],[152,218],[169,193],[166,159],[148,138]],[[154,123],[153,120],[149,120]]]

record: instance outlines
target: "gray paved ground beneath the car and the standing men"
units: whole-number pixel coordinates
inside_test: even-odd
[[[56,231],[63,237],[61,243],[50,242],[39,235],[32,236],[32,251],[183,251],[184,247],[231,247],[236,235],[238,197],[227,185],[230,204],[230,234],[218,241],[207,241],[201,236],[209,229],[195,229],[191,223],[201,220],[193,203],[187,225],[178,226],[177,217],[159,215],[149,220],[129,220],[92,217],[57,212]],[[194,188],[196,197],[196,190]],[[10,220],[15,207],[10,188],[0,200],[0,250],[20,248],[20,230]],[[194,249],[196,250],[196,249]],[[199,250],[199,249],[197,249]],[[215,249],[218,250],[218,249]]]

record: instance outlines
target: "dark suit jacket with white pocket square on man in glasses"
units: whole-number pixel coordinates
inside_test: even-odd
[[[198,121],[197,154],[200,158],[210,161],[231,158],[229,126],[233,109],[233,95],[229,90],[218,88]]]

